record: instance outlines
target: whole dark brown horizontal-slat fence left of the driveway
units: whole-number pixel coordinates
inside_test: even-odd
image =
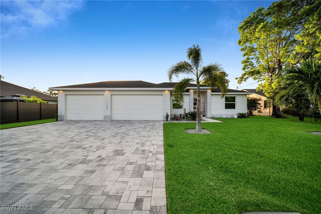
[[[1,102],[0,124],[55,118],[57,104]]]

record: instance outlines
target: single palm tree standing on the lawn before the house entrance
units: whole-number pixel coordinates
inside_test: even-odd
[[[172,82],[173,76],[179,77],[180,74],[186,74],[188,77],[183,78],[173,88],[173,97],[178,102],[184,100],[183,93],[190,83],[197,84],[197,106],[196,106],[196,132],[201,131],[201,93],[200,82],[206,81],[211,90],[217,87],[221,89],[221,98],[225,96],[229,87],[228,76],[221,64],[211,63],[202,66],[202,49],[199,45],[193,45],[187,49],[187,61],[180,61],[172,65],[168,72],[169,81]]]

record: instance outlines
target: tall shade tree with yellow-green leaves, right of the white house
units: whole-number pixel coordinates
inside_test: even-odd
[[[280,107],[276,105],[275,98],[279,93],[278,81],[282,76],[282,69],[298,64],[316,47],[309,45],[305,48],[296,48],[303,44],[300,35],[306,31],[307,21],[311,14],[317,11],[316,1],[277,1],[267,9],[259,7],[251,13],[238,30],[243,56],[243,74],[237,78],[238,83],[253,78],[263,83],[265,94],[272,100],[272,116],[282,117]],[[303,9],[314,5],[310,10]]]

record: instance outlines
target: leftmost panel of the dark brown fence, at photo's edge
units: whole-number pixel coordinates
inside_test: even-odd
[[[1,124],[17,122],[17,103],[1,102],[0,104],[0,122]]]

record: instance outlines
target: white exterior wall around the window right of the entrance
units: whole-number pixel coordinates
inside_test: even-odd
[[[236,97],[235,109],[225,109],[225,98],[221,95],[212,94],[211,98],[211,116],[212,117],[233,117],[237,113],[247,112],[247,95],[246,94],[228,94],[227,97]]]

